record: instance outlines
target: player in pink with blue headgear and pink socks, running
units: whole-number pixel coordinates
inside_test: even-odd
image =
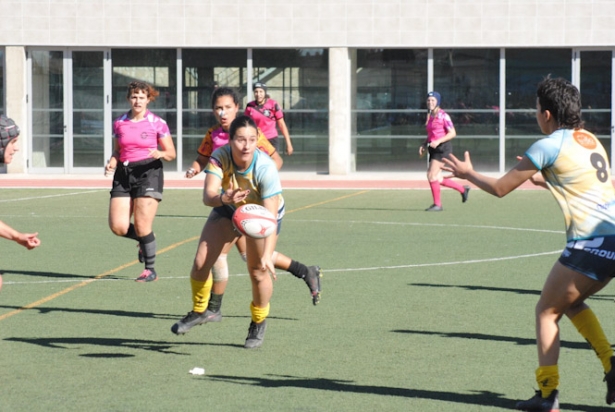
[[[468,200],[470,186],[462,186],[451,179],[442,179],[442,159],[453,152],[451,140],[457,136],[455,126],[451,117],[440,108],[442,98],[438,92],[427,94],[427,139],[419,148],[419,156],[423,156],[425,149],[429,151],[429,167],[427,168],[427,180],[433,196],[433,204],[425,209],[428,212],[442,211],[442,199],[440,196],[440,185],[450,187],[461,193],[461,201]]]

